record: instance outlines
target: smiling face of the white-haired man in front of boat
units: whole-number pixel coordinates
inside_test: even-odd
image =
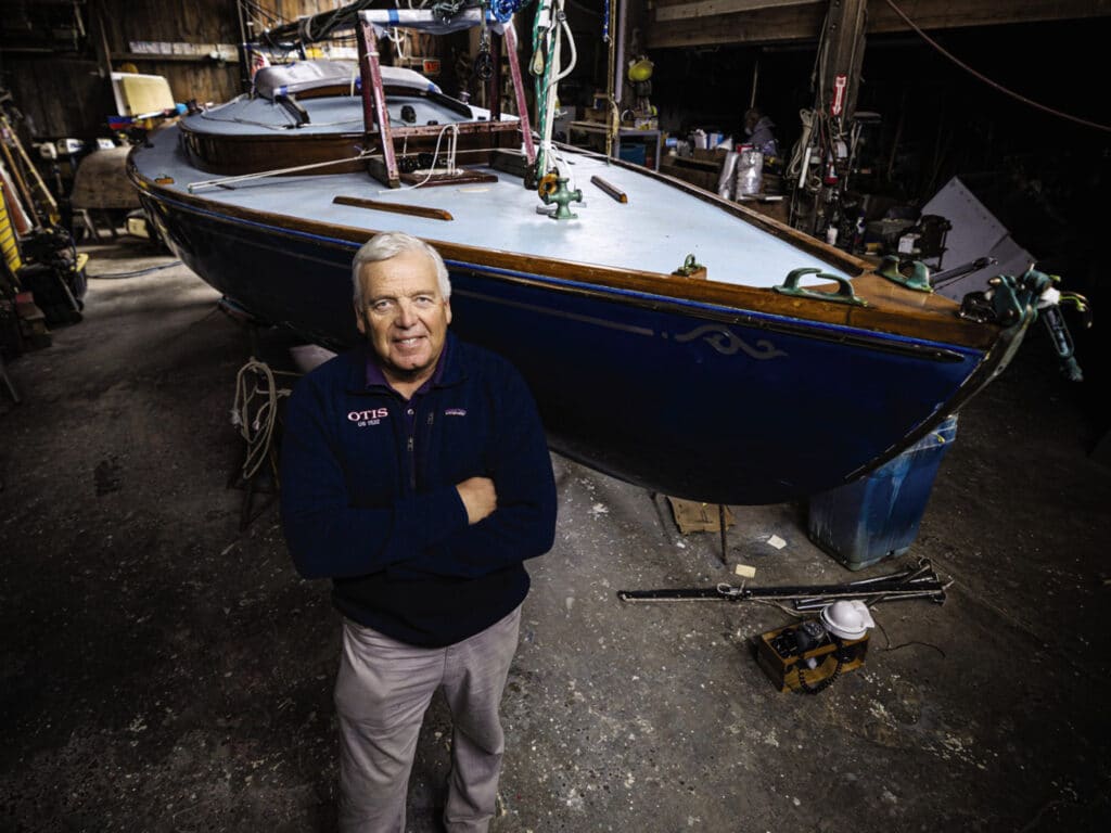
[[[432,375],[451,323],[451,304],[440,292],[436,265],[421,251],[403,251],[367,263],[360,274],[366,308],[356,310],[390,381],[423,382]]]

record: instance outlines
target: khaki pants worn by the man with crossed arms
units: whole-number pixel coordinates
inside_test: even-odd
[[[520,621],[518,608],[448,648],[407,645],[343,621],[336,680],[343,833],[403,833],[417,736],[440,686],[453,723],[443,823],[449,833],[486,833],[501,772],[499,705]]]

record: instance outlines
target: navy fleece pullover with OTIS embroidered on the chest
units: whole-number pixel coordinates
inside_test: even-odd
[[[450,332],[439,380],[409,402],[368,387],[367,350],[320,365],[288,402],[286,540],[301,575],[333,580],[344,615],[409,644],[450,645],[520,604],[522,562],[551,549],[543,430],[517,370]],[[498,508],[468,525],[456,484],[472,476],[493,480]]]

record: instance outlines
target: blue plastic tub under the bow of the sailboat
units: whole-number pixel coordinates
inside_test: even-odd
[[[957,439],[957,416],[860,480],[810,499],[810,540],[850,570],[902,555],[914,543],[933,480]]]

